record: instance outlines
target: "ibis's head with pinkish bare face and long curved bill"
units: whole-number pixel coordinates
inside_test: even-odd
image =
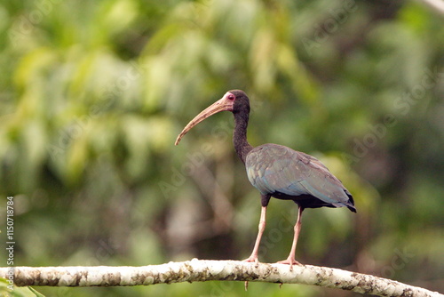
[[[217,114],[220,111],[231,111],[234,114],[245,110],[250,112],[250,100],[247,94],[241,90],[231,90],[226,92],[224,97],[211,104],[208,108],[202,110],[202,112],[195,116],[194,119],[189,122],[184,130],[178,134],[175,145],[184,137],[186,132],[190,131],[196,124],[201,123],[205,118]]]

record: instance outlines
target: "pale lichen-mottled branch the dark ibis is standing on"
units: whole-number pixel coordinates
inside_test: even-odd
[[[0,268],[15,285],[110,286],[155,285],[210,280],[320,285],[378,296],[444,296],[412,285],[361,273],[311,265],[293,266],[243,261],[197,260],[141,267],[10,267]],[[12,273],[10,273],[12,277]]]

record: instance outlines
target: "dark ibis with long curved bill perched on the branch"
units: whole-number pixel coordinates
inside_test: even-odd
[[[250,100],[241,90],[226,92],[222,99],[195,116],[178,135],[176,145],[196,124],[224,110],[234,114],[234,148],[247,169],[248,179],[261,195],[262,211],[258,237],[250,258],[245,261],[258,263],[259,243],[266,229],[266,206],[270,198],[275,197],[293,200],[298,206],[293,245],[287,260],[280,261],[280,263],[289,264],[291,268],[293,264],[299,264],[295,260],[295,251],[304,209],[346,206],[356,213],[353,197],[342,182],[315,157],[272,143],[253,148],[247,140]]]

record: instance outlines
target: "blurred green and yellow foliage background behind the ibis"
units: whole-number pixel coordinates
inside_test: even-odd
[[[260,197],[234,153],[233,116],[210,117],[174,146],[203,108],[242,89],[253,146],[312,154],[355,197],[356,214],[305,212],[297,260],[443,292],[444,14],[433,3],[0,4],[0,212],[13,197],[14,264],[247,258]],[[259,260],[275,262],[289,253],[297,205],[268,209]],[[36,289],[359,295],[240,282]]]

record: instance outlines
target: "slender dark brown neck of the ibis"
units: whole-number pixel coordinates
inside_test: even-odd
[[[250,150],[253,149],[247,140],[247,126],[249,124],[249,111],[238,112],[234,114],[234,133],[233,133],[233,143],[234,149],[236,150],[237,156],[245,164]]]

